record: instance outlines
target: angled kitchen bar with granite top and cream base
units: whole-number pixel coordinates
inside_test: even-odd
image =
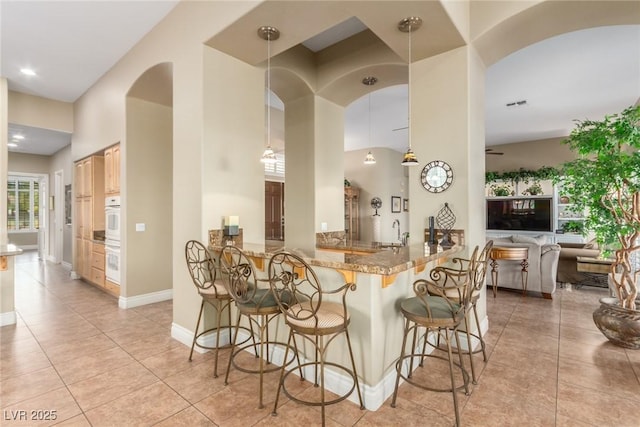
[[[210,231],[209,249],[222,250],[215,239],[217,230]],[[424,278],[429,270],[456,254],[463,246],[444,249],[440,246],[414,244],[405,247],[380,247],[376,244],[320,245],[306,253],[279,245],[243,243],[239,245],[255,264],[258,275],[268,275],[271,256],[288,250],[302,256],[318,275],[324,287],[337,288],[345,282],[356,283],[356,290],[347,295],[351,316],[349,331],[354,356],[361,379],[367,409],[378,409],[393,392],[394,362],[402,344],[403,319],[399,303],[413,296],[412,284]],[[278,338],[286,338],[286,328],[278,327]],[[334,352],[329,358],[347,364],[347,352]],[[308,357],[308,356],[307,356]],[[327,377],[327,389],[339,393],[345,384],[340,375]],[[351,396],[355,398],[355,395]]]

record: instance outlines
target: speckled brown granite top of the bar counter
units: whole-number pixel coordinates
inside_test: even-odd
[[[381,248],[377,243],[350,242],[349,244],[318,245],[313,251],[287,248],[277,244],[244,243],[242,250],[249,256],[270,258],[274,253],[286,250],[302,256],[310,265],[349,270],[369,274],[391,275],[430,261],[447,258],[463,250],[463,246],[443,248],[413,244],[404,247]],[[221,246],[210,246],[220,251]]]

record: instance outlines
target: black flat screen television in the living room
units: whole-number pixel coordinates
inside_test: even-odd
[[[551,198],[487,199],[487,230],[553,231]]]

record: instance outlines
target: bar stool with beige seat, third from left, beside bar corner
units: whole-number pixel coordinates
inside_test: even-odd
[[[273,415],[277,415],[280,391],[294,402],[320,406],[323,426],[325,425],[325,406],[343,401],[351,395],[354,389],[358,392],[360,409],[364,409],[351,339],[349,338],[350,317],[346,304],[347,292],[356,289],[355,283],[345,283],[338,289],[331,291],[323,289],[311,267],[301,257],[287,252],[277,253],[269,260],[269,283],[278,305],[285,315],[285,322],[289,326],[287,352],[292,345],[298,352],[296,337],[301,337],[304,343],[311,344],[311,348],[314,350],[314,360],[300,364],[298,357],[298,370],[301,379],[304,379],[303,368],[313,367],[314,385],[320,387],[320,402],[303,400],[291,395],[285,387],[285,379],[295,371],[295,368],[287,371],[283,366],[273,406]],[[344,334],[347,341],[350,367],[326,360],[329,345],[341,334]],[[285,355],[285,359],[286,357]],[[346,373],[353,381],[349,391],[330,401],[325,398],[326,366]],[[320,378],[319,383],[318,377]]]

